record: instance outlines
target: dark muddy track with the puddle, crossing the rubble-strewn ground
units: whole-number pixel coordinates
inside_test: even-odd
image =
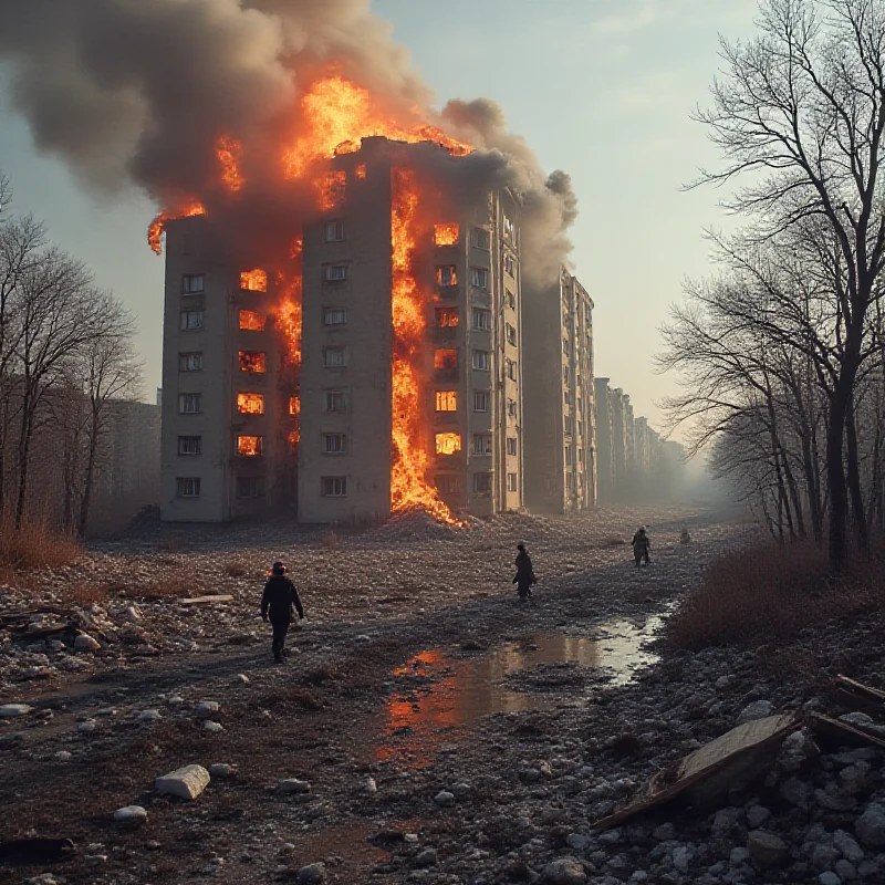
[[[647,570],[615,549],[545,581],[537,606],[481,586],[433,611],[406,597],[393,617],[376,605],[381,616],[309,622],[284,665],[270,662],[269,639],[242,648],[220,637],[199,655],[32,684],[20,697],[34,711],[0,731],[0,836],[73,839],[76,858],[53,870],[69,883],[284,881],[314,862],[333,883],[460,882],[425,870],[427,857],[403,868],[385,837],[414,841],[416,856],[457,840],[462,822],[434,798],[473,754],[470,813],[491,813],[500,796],[482,789],[496,767],[494,741],[477,743],[485,722],[516,717],[531,742],[539,722],[568,722],[570,708],[652,664],[655,618],[731,534],[707,517],[699,525],[688,548],[664,541]],[[222,730],[205,729],[201,700],[218,702]],[[154,793],[157,777],[188,763],[232,770],[192,803]],[[292,778],[309,792],[281,793]],[[113,824],[129,804],[147,810],[146,825]],[[0,866],[0,882],[50,870]]]

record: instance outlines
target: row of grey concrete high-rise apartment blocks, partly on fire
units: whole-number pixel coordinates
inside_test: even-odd
[[[168,225],[165,520],[274,508],[308,523],[384,519],[403,427],[412,467],[456,513],[576,511],[607,497],[610,477],[616,488],[622,447],[606,444],[602,458],[589,293],[564,268],[548,291],[524,284],[520,205],[507,189],[425,225],[404,270],[392,250],[404,152],[372,137],[332,162],[334,198],[303,229],[296,342],[280,310],[291,267],[237,266],[205,216]],[[421,337],[407,347],[416,392],[404,394],[406,271],[424,294]],[[614,402],[603,436],[626,439]],[[643,421],[631,413],[624,471],[650,457]]]

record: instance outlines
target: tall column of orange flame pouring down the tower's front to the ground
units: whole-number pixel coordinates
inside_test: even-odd
[[[394,324],[391,509],[396,512],[420,508],[438,520],[456,523],[451,511],[426,479],[428,455],[420,428],[420,356],[426,346],[424,304],[427,295],[412,270],[418,211],[417,176],[414,170],[399,167],[392,169],[391,176]]]

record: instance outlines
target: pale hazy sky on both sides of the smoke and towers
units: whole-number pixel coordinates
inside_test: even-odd
[[[702,228],[726,223],[716,191],[680,191],[699,165],[717,162],[689,114],[707,103],[718,34],[746,37],[756,8],[756,0],[373,2],[438,104],[496,100],[544,168],[571,174],[580,200],[572,260],[596,304],[596,375],[629,393],[636,414],[655,425],[655,402],[673,389],[654,374],[657,327],[681,280],[710,269]],[[135,191],[111,204],[87,196],[59,162],[33,153],[2,90],[0,169],[12,179],[15,208],[43,218],[52,238],[136,312],[153,398],[163,260],[145,228],[155,207]]]

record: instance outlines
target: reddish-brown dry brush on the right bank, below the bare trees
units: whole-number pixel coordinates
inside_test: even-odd
[[[857,560],[834,577],[813,544],[757,544],[714,560],[667,623],[675,648],[758,647],[799,631],[885,607],[885,561]]]

